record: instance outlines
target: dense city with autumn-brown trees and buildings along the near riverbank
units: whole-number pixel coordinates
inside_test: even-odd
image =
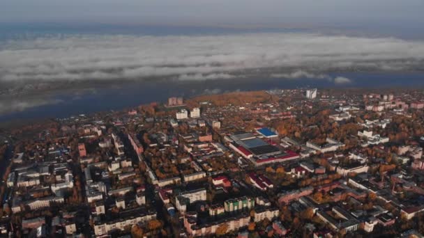
[[[5,237],[424,237],[424,93],[171,97],[0,131]]]

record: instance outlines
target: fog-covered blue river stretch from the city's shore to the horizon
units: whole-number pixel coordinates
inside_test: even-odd
[[[234,90],[424,84],[421,38],[310,29],[61,26],[0,24],[0,121]]]

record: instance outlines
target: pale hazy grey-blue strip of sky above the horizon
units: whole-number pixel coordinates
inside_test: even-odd
[[[1,0],[0,22],[419,24],[423,0]]]

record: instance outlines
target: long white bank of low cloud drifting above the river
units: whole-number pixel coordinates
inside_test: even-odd
[[[311,33],[69,35],[0,42],[3,82],[250,74],[326,79],[335,70],[422,70],[423,62],[424,42]]]

